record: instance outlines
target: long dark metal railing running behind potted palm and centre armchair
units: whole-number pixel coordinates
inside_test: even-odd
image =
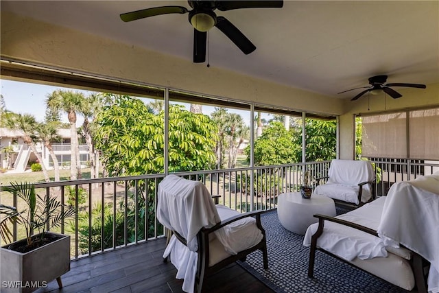
[[[277,197],[298,191],[305,171],[325,176],[329,162],[298,163],[268,167],[246,167],[197,172],[179,172],[178,176],[200,180],[219,203],[240,212],[277,207]],[[56,196],[62,204],[78,211],[62,222],[59,233],[71,235],[71,256],[102,253],[165,235],[156,219],[158,183],[165,174],[36,183],[38,194]],[[12,198],[17,207],[17,197]],[[7,198],[6,198],[7,199]],[[18,206],[20,207],[20,205]],[[12,227],[14,241],[23,237],[20,226]]]

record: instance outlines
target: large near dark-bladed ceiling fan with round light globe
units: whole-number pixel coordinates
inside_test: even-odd
[[[161,6],[120,14],[122,21],[135,21],[161,14],[185,14],[189,12],[189,23],[193,26],[193,62],[206,60],[207,31],[217,27],[237,45],[244,54],[256,49],[241,31],[223,16],[217,16],[213,10],[227,11],[241,8],[282,8],[283,1],[187,1],[192,10],[183,6]]]

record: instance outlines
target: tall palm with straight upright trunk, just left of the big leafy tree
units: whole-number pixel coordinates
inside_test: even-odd
[[[67,113],[70,124],[71,143],[71,180],[81,178],[80,150],[78,144],[78,132],[76,129],[77,114],[82,112],[86,104],[83,93],[73,91],[54,91],[47,95],[46,104],[52,110],[64,111]]]

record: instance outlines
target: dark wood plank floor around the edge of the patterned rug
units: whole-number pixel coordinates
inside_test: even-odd
[[[52,281],[43,292],[183,292],[176,268],[163,262],[165,239],[157,239],[71,262],[62,290]],[[262,260],[261,260],[262,261]],[[206,292],[272,292],[236,263],[207,279]]]

